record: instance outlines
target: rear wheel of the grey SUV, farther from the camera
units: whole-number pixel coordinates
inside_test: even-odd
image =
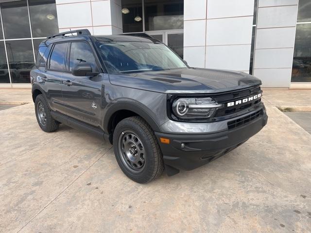
[[[59,122],[51,116],[51,109],[42,94],[35,98],[35,116],[44,132],[53,132],[59,128]]]

